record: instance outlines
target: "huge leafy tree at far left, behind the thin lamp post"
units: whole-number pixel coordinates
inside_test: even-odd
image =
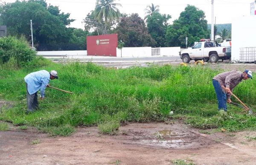
[[[4,3],[0,10],[0,20],[7,25],[9,35],[31,37],[30,20],[33,21],[35,45],[39,43],[68,43],[73,29],[67,28],[69,14],[60,13],[57,6],[47,7],[44,0],[16,1]]]

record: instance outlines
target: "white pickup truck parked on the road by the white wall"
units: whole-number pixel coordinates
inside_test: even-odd
[[[181,51],[180,58],[184,63],[189,63],[190,60],[204,60],[214,63],[219,59],[230,60],[231,54],[226,54],[226,49],[229,49],[228,46],[220,46],[215,41],[204,41],[196,43],[192,49]]]

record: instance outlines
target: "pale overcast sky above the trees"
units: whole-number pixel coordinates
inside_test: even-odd
[[[0,0],[2,2],[15,2],[15,0]],[[236,17],[250,15],[250,3],[254,0],[214,0],[214,16],[216,23],[232,23]],[[94,9],[96,0],[46,0],[47,4],[59,6],[61,12],[70,13],[70,18],[76,19],[70,27],[84,29],[82,23],[86,15]],[[173,20],[178,19],[180,12],[184,11],[187,4],[194,5],[203,10],[206,20],[211,23],[212,6],[211,0],[116,0],[122,7],[119,7],[121,13],[138,13],[140,17],[145,17],[144,9],[147,5],[160,6],[161,14],[170,14]]]

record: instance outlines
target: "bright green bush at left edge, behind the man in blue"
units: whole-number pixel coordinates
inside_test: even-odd
[[[0,38],[0,63],[5,64],[14,59],[18,66],[23,66],[31,61],[36,52],[29,47],[25,38],[15,37]]]

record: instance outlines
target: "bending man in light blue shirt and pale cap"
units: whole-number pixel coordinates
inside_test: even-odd
[[[58,75],[55,70],[47,72],[46,70],[40,70],[38,72],[32,72],[24,78],[26,82],[27,90],[27,105],[28,109],[26,113],[33,112],[38,109],[38,95],[37,92],[40,90],[41,99],[44,99],[44,90],[49,86],[49,80],[57,78]]]

